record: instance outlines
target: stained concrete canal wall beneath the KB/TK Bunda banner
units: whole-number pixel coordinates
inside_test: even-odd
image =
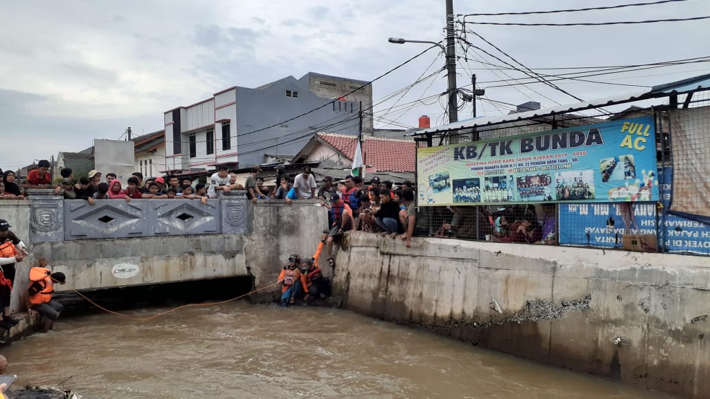
[[[344,240],[346,308],[687,398],[710,393],[710,260],[458,240]],[[618,343],[618,344],[615,344]]]

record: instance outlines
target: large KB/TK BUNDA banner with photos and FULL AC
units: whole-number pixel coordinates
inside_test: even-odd
[[[417,149],[417,205],[657,201],[651,116]]]

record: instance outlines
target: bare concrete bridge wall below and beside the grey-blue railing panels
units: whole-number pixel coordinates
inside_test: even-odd
[[[149,201],[149,200],[146,200]],[[176,201],[178,203],[179,201]],[[252,276],[256,286],[275,282],[289,254],[310,257],[327,227],[318,201],[269,201],[248,206],[251,232],[172,237],[31,242],[29,201],[3,201],[6,218],[29,248],[18,264],[13,311],[26,309],[28,270],[39,257],[67,275],[57,291]]]

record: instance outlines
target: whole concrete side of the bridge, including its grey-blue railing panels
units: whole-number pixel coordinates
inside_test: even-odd
[[[235,202],[242,205],[239,213],[228,208]],[[12,294],[12,311],[22,322],[0,335],[0,341],[30,332],[38,321],[26,310],[28,271],[39,257],[67,275],[66,285],[55,286],[58,292],[239,276],[261,287],[276,281],[290,254],[315,251],[327,227],[327,213],[318,203],[219,198],[206,206],[196,200],[165,205],[134,200],[127,207],[118,200],[95,206],[52,198],[1,201],[0,218],[9,221],[29,254],[17,264]],[[165,206],[170,210],[160,213]],[[186,214],[190,218],[180,219]],[[107,216],[113,220],[99,221]]]

